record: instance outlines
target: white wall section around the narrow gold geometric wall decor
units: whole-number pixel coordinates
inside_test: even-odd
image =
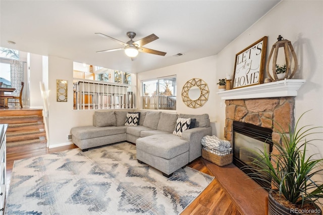
[[[48,144],[56,147],[71,143],[67,139],[71,128],[92,125],[93,112],[73,110],[73,61],[49,56],[48,71]],[[56,100],[57,79],[68,81],[67,102]]]

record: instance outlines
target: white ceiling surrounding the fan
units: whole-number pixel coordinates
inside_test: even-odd
[[[0,46],[139,73],[216,55],[279,2],[0,1]],[[134,41],[154,33],[159,39],[144,47],[167,55],[96,53],[123,46],[95,32],[127,42],[128,31]]]

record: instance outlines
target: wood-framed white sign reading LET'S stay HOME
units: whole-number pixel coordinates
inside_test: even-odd
[[[266,56],[267,37],[264,36],[236,55],[232,86],[234,88],[260,84]]]

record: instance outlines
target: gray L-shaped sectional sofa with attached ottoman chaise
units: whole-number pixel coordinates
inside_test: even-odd
[[[139,114],[139,125],[125,125],[128,113]],[[175,128],[181,125],[179,121],[182,118],[192,121],[190,129],[173,134]],[[163,172],[166,177],[201,156],[201,139],[211,133],[207,114],[134,110],[96,111],[93,125],[71,129],[73,143],[83,151],[122,141],[136,143],[138,162]]]

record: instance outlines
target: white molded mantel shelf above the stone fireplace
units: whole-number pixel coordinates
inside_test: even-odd
[[[297,96],[297,91],[303,83],[304,79],[285,79],[217,93],[222,100]]]

